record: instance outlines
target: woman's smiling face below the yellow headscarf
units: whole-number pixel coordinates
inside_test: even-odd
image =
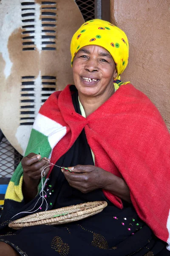
[[[82,47],[73,61],[74,83],[84,96],[101,96],[114,92],[117,70],[111,54],[98,45]]]

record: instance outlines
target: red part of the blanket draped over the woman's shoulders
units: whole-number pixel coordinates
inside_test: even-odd
[[[56,163],[85,128],[95,165],[125,179],[139,217],[169,244],[170,134],[147,96],[132,84],[122,85],[84,118],[74,110],[68,85],[53,93],[40,113],[67,128],[52,151],[51,162]],[[109,191],[104,193],[122,208],[119,198]]]

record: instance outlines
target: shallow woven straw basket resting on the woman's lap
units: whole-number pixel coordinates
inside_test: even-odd
[[[87,218],[101,212],[107,205],[108,204],[105,201],[94,201],[62,207],[46,212],[37,212],[16,221],[12,221],[8,226],[18,230],[22,227],[35,225],[59,225],[72,221],[79,221],[83,218]]]

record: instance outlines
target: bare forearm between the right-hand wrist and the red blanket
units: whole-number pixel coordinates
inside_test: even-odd
[[[110,172],[107,172],[106,176],[106,181],[102,189],[108,190],[113,195],[116,195],[128,203],[131,203],[130,191],[127,184],[125,183],[125,180],[117,177],[116,175],[113,175]]]

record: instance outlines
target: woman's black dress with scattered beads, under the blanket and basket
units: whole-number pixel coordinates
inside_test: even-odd
[[[72,98],[80,113],[77,93]],[[80,113],[81,114],[81,113]],[[70,150],[56,163],[58,166],[94,165],[91,149],[83,130]],[[28,256],[170,256],[166,244],[157,239],[150,228],[138,217],[132,204],[123,202],[123,209],[114,206],[102,189],[83,194],[69,186],[61,170],[54,166],[45,186],[48,209],[81,204],[88,201],[107,201],[108,206],[99,214],[80,221],[57,226],[41,225],[12,230],[6,227],[11,216],[2,215],[0,241],[5,241],[20,255]],[[32,209],[39,195],[13,215]],[[37,204],[37,209],[40,207]],[[42,205],[44,211],[46,205]],[[21,218],[28,214],[20,214]],[[7,221],[7,222],[6,222]]]

